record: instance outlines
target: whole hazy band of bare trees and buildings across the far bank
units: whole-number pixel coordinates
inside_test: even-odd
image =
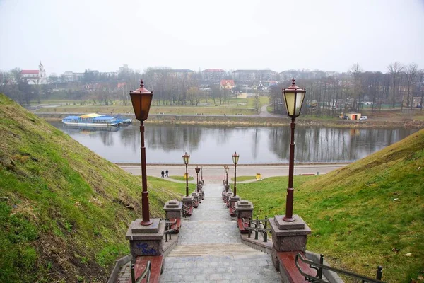
[[[154,105],[199,105],[202,101],[213,104],[228,103],[242,91],[235,87],[221,88],[219,81],[204,81],[201,71],[176,75],[170,68],[152,68],[140,71],[125,69],[117,76],[108,76],[87,69],[82,76],[66,81],[66,76],[49,76],[47,84],[30,84],[21,76],[18,68],[0,72],[0,93],[16,100],[21,105],[49,98],[69,100],[93,100],[108,105],[113,100],[122,100],[128,105],[129,91],[139,88],[140,79],[154,91]],[[307,88],[305,112],[322,116],[338,115],[338,112],[363,110],[369,104],[372,111],[382,108],[412,108],[413,98],[420,97],[423,105],[424,72],[418,65],[393,62],[385,73],[364,71],[353,64],[346,72],[330,74],[324,71],[294,71],[296,83]],[[224,79],[231,79],[229,71]],[[257,91],[259,81],[249,83],[249,92],[256,96],[268,95],[275,112],[283,107],[281,89],[290,86],[291,78],[281,79],[278,84],[265,91]],[[245,91],[243,89],[243,91]]]

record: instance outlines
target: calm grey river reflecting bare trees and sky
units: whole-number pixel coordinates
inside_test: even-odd
[[[52,122],[95,153],[114,163],[140,163],[139,122],[128,127],[84,129]],[[332,129],[296,127],[296,162],[354,161],[404,139],[416,129]],[[147,163],[287,163],[290,127],[203,127],[147,125]]]

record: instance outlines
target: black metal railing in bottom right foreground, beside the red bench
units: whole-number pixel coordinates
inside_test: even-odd
[[[303,263],[310,265],[310,268],[317,270],[317,275],[309,275],[306,272],[304,272],[302,270],[302,267],[300,267],[298,260],[302,261]],[[362,283],[365,283],[365,282],[384,283],[384,281],[381,281],[382,276],[383,276],[383,267],[381,267],[381,266],[377,267],[377,275],[375,277],[376,279],[372,279],[372,278],[369,278],[369,277],[365,277],[363,275],[358,275],[358,274],[350,272],[350,271],[339,270],[338,268],[334,268],[334,267],[330,267],[328,265],[324,265],[324,255],[320,256],[319,263],[317,263],[317,262],[314,262],[312,260],[306,260],[305,258],[303,258],[303,256],[300,253],[298,253],[296,255],[296,258],[295,258],[295,264],[296,264],[296,267],[298,267],[300,274],[305,276],[305,280],[307,280],[308,282],[312,282],[312,283],[315,283],[315,282],[326,283],[327,282],[327,281],[324,281],[324,279],[322,279],[322,273],[323,273],[324,270],[336,272],[338,275],[346,275],[346,276],[354,278],[354,279],[360,279]]]

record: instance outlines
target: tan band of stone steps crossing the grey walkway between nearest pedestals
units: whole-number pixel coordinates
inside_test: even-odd
[[[211,243],[199,245],[178,245],[167,256],[201,256],[201,255],[263,255],[259,250],[250,248],[243,243]]]

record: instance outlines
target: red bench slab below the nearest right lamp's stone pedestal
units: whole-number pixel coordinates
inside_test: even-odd
[[[277,258],[278,262],[280,262],[280,273],[281,276],[283,276],[283,279],[285,279],[285,282],[290,283],[300,283],[300,282],[309,282],[305,279],[303,275],[300,274],[298,267],[296,267],[295,258],[296,255],[300,253],[303,255],[304,258],[306,258],[305,253],[302,253],[300,251],[295,252],[277,252]],[[303,271],[305,271],[307,274],[310,275],[316,275],[317,270],[314,270],[309,267],[304,262],[299,262],[300,267]]]

